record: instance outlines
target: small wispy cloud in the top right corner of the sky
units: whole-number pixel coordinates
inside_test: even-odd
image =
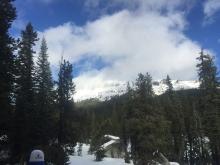
[[[213,16],[220,11],[220,1],[219,0],[207,0],[204,3],[203,12],[205,14],[205,21],[210,23],[213,22]]]

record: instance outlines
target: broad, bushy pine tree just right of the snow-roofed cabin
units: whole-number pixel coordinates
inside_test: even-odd
[[[163,149],[166,136],[166,120],[156,108],[153,99],[152,78],[139,74],[136,80],[133,116],[129,120],[131,152],[134,164],[147,164],[157,149]]]

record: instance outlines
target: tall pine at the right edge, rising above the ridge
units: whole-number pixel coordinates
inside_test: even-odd
[[[197,58],[198,76],[201,90],[201,107],[203,109],[203,130],[210,140],[213,164],[220,164],[220,111],[219,111],[219,78],[214,58],[205,55],[203,50]]]

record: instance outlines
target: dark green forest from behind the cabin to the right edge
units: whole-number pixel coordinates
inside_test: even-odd
[[[159,151],[170,161],[190,165],[220,164],[220,90],[214,59],[201,51],[195,66],[199,89],[174,91],[171,79],[167,90],[156,96],[152,77],[139,74],[128,83],[122,96],[99,102],[87,100],[84,112],[84,141],[91,149],[103,143],[103,135],[121,138],[125,161],[136,165],[160,161]],[[130,152],[127,147],[131,145]]]

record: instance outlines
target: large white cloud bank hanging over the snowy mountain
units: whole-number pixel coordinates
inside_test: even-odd
[[[73,23],[51,27],[43,35],[52,65],[59,63],[62,53],[72,63],[96,55],[111,64],[74,79],[79,99],[97,95],[103,84],[135,80],[139,72],[150,72],[154,79],[166,74],[173,79],[195,79],[200,46],[185,36],[186,26],[183,13],[174,9],[165,15],[157,9],[121,10],[82,27]]]

